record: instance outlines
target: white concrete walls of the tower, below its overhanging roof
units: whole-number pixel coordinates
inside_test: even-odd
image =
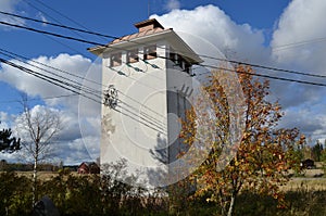
[[[139,62],[127,65],[124,50],[112,51],[122,52],[121,66],[111,67],[110,52],[102,61],[103,91],[114,85],[118,102],[115,110],[102,105],[101,164],[126,158],[128,171],[138,170],[151,185],[167,175],[168,164],[186,151],[178,139],[178,118],[190,107],[185,91],[191,90],[191,77],[165,59],[166,41],[156,46],[158,56],[162,58],[147,63],[142,61],[142,46],[138,46]]]

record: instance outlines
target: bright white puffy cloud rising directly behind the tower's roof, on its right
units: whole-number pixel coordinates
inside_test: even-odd
[[[217,7],[174,10],[167,14],[151,17],[155,17],[166,28],[173,27],[177,33],[192,34],[208,40],[227,56],[254,62],[268,59],[268,49],[263,46],[265,42],[263,33],[249,24],[236,24]],[[196,51],[205,54],[204,50]]]

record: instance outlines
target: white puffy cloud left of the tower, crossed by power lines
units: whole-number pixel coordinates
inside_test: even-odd
[[[35,63],[41,63],[42,65]],[[17,64],[22,64],[21,62],[13,61]],[[87,82],[83,78],[84,76],[89,73],[92,74],[91,78],[99,79],[100,77],[100,65],[92,64],[90,60],[83,58],[82,55],[68,55],[68,54],[60,54],[54,58],[47,58],[47,56],[39,56],[37,59],[34,59],[28,62],[29,64],[36,65],[38,67],[47,69],[47,72],[41,71],[39,68],[33,67],[30,65],[24,65],[27,68],[30,68],[37,73],[47,75],[51,78],[55,78],[61,80],[59,85],[63,87],[68,87],[65,81],[74,80],[78,84],[83,84],[84,87],[91,88],[95,90],[101,90],[101,86],[92,82]],[[64,72],[54,71],[52,68],[46,67],[43,65],[48,65],[54,68],[59,68],[61,71],[67,72],[70,74],[66,74]],[[52,100],[46,100],[47,104],[49,105],[64,105],[67,109],[70,109],[73,112],[78,111],[78,97],[71,96],[74,92],[71,92],[68,90],[65,90],[59,86],[54,86],[53,84],[50,84],[48,81],[45,81],[40,78],[37,78],[35,76],[32,76],[30,74],[27,74],[25,72],[22,72],[20,69],[13,68],[9,65],[1,64],[2,69],[0,69],[0,80],[3,80],[16,89],[18,89],[22,92],[27,93],[30,97],[41,97],[41,98],[52,98]],[[76,77],[77,76],[77,77]],[[80,78],[78,78],[80,77]],[[99,82],[100,80],[95,80]],[[75,89],[76,90],[76,89]],[[76,90],[78,91],[78,90]],[[95,92],[100,96],[100,92]],[[83,93],[88,94],[88,93]],[[61,96],[70,96],[70,97],[61,97]],[[55,98],[60,97],[60,98]],[[95,97],[96,98],[96,97]],[[87,99],[88,104],[93,104]]]

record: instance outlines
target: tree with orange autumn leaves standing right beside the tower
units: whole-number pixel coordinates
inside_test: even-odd
[[[196,140],[196,128],[205,123],[199,123],[193,109],[187,112],[180,134],[188,145],[195,141],[199,145],[209,143],[211,151],[208,158],[193,173],[198,186],[196,195],[206,196],[206,201],[218,203],[222,215],[228,216],[234,213],[237,195],[246,189],[272,195],[281,204],[284,195],[279,187],[289,179],[287,171],[299,166],[300,160],[294,154],[298,149],[296,145],[300,145],[304,140],[296,128],[277,127],[283,113],[277,102],[267,100],[268,81],[254,78],[251,67],[239,65],[236,71],[238,80],[233,81],[240,84],[243,103],[231,107],[230,101],[237,92],[233,89],[236,88],[235,82],[227,78],[230,72],[214,71],[203,88],[210,96],[215,115],[206,123],[214,128],[214,135],[208,135],[210,139]],[[228,96],[225,85],[229,88]],[[199,101],[196,105],[200,107],[202,101]],[[235,140],[231,139],[231,115],[235,109],[241,110],[237,115],[241,115],[238,117],[243,120],[239,143],[234,143]],[[235,151],[233,155],[231,152]],[[230,155],[226,155],[225,152],[229,152]],[[231,158],[227,158],[228,156]],[[197,156],[193,156],[192,160],[196,158]],[[223,167],[222,161],[227,162]]]

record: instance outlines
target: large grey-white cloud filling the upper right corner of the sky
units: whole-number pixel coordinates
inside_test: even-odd
[[[293,0],[289,4],[273,35],[273,56],[276,61],[284,64],[290,62],[302,69],[326,75],[325,10],[324,0]]]

